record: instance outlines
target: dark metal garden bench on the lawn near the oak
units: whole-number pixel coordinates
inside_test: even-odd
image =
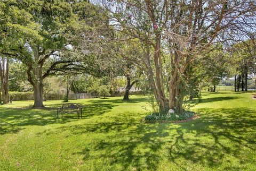
[[[57,109],[57,118],[59,118],[59,113],[61,113],[61,117],[63,113],[77,113],[77,118],[79,119],[79,113],[82,116],[83,105],[80,104],[63,104],[62,107]]]

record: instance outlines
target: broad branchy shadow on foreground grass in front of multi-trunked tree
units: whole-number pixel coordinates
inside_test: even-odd
[[[241,153],[245,149],[255,150],[256,110],[203,108],[197,113],[201,118],[182,124],[145,124],[133,117],[136,114],[127,113],[109,117],[108,122],[61,126],[56,131],[70,131],[70,136],[93,134],[89,145],[78,154],[84,156],[85,162],[106,159],[107,165],[122,166],[122,170],[156,170],[163,153],[182,169],[186,167],[180,159],[209,168],[226,165],[225,157],[230,155],[241,162],[250,162]],[[47,133],[55,133],[51,131]],[[246,169],[232,164],[223,167]]]

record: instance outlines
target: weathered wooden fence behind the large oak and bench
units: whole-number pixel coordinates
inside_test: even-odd
[[[64,95],[60,94],[44,94],[45,100],[62,100]],[[96,93],[74,93],[69,94],[69,100],[76,99],[89,99],[89,98],[97,98],[99,97]],[[12,101],[20,101],[20,100],[34,100],[33,93],[24,94],[24,95],[10,95],[10,100]]]

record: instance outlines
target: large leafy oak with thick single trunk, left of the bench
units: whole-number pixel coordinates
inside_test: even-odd
[[[98,7],[87,1],[11,1],[10,6],[26,11],[28,24],[13,29],[21,36],[6,54],[27,66],[28,81],[34,89],[34,107],[43,107],[43,80],[47,76],[86,69],[79,63],[82,56],[77,42],[79,38],[85,39],[82,32],[92,32],[92,21],[100,20],[101,14]]]

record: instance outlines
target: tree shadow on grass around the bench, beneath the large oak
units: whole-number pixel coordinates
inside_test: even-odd
[[[49,105],[50,106],[50,105]],[[83,119],[103,115],[115,105],[112,104],[86,104],[83,107]],[[0,108],[0,135],[17,133],[28,125],[44,126],[49,124],[64,124],[77,122],[77,114],[63,114],[57,118],[57,110]]]

